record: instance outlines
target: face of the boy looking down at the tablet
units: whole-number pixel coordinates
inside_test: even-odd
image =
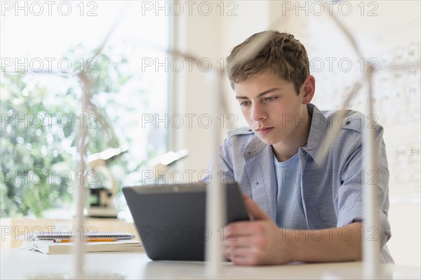
[[[260,140],[274,147],[294,145],[303,138],[307,140],[309,116],[306,105],[314,93],[314,84],[311,81],[309,84],[309,79],[314,81],[312,76],[307,77],[299,95],[292,82],[271,72],[234,84],[241,112]]]

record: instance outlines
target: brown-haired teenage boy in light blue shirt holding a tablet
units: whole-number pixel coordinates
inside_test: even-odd
[[[251,56],[250,48],[257,48]],[[364,171],[366,119],[351,110],[327,114],[310,103],[315,79],[304,46],[291,34],[254,34],[227,61],[249,127],[229,133],[220,162],[224,179],[248,196],[253,220],[227,226],[225,256],[238,265],[361,260],[362,239],[370,238],[380,239],[382,260],[393,262],[385,245],[391,234],[383,128],[373,128],[377,170]],[[327,155],[320,156],[338,121]],[[377,185],[378,229],[362,225],[364,180]]]

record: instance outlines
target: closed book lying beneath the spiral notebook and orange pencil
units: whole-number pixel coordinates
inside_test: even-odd
[[[140,253],[144,251],[140,241],[125,239],[107,242],[85,242],[85,253]],[[22,244],[23,249],[50,254],[73,253],[74,242],[55,243],[53,239],[28,239]]]

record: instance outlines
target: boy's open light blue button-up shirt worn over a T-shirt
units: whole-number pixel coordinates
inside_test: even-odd
[[[298,156],[302,166],[301,196],[308,229],[344,227],[363,220],[363,184],[371,180],[377,184],[380,220],[378,232],[365,230],[366,237],[379,237],[384,262],[393,262],[387,246],[391,236],[389,211],[389,171],[383,128],[373,124],[363,114],[352,110],[321,112],[307,105],[312,124],[305,147]],[[320,149],[328,130],[340,124],[328,154],[321,158]],[[363,126],[375,130],[377,170],[373,173],[362,167]],[[235,180],[243,193],[248,194],[274,222],[276,222],[276,174],[272,147],[258,138],[250,128],[231,131],[220,147],[220,168],[225,181]],[[212,170],[211,167],[209,170]]]

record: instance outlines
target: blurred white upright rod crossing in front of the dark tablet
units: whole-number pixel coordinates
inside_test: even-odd
[[[212,102],[212,115],[218,116],[220,104],[222,100],[222,91],[219,87],[222,86],[218,79],[218,74],[209,73],[209,83],[215,88],[214,100]],[[225,186],[221,185],[220,176],[220,128],[217,124],[213,125],[213,152],[215,152],[215,163],[212,170],[212,178],[210,184],[206,188],[206,226],[210,230],[210,237],[206,240],[205,260],[206,260],[206,277],[218,278],[222,269],[223,248],[222,248],[222,234],[223,226],[226,220],[226,190]]]

